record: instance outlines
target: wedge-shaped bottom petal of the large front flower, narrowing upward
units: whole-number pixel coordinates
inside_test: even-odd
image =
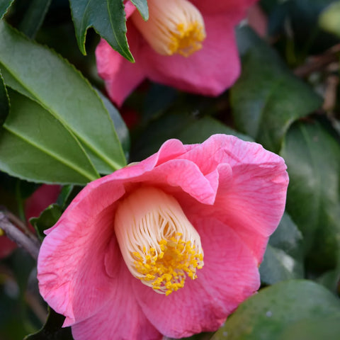
[[[93,317],[72,326],[75,340],[160,340],[162,334],[155,329],[142,313],[132,290],[133,278],[121,266],[115,291],[106,304]]]

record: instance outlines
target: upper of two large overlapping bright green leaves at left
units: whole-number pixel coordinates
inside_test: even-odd
[[[99,173],[125,166],[108,111],[72,65],[0,22],[0,67],[6,86],[37,101],[74,133]]]

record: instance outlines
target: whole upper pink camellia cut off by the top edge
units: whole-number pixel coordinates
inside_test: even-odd
[[[218,96],[239,77],[234,26],[256,0],[148,0],[143,21],[125,1],[128,42],[135,64],[105,40],[96,49],[98,73],[120,106],[140,82],[151,79],[176,89]]]

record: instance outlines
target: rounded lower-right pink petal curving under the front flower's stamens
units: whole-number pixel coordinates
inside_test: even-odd
[[[192,218],[191,218],[192,217]],[[215,331],[240,302],[259,288],[257,261],[227,225],[189,216],[204,251],[198,278],[169,296],[133,281],[135,295],[147,318],[162,334],[175,338]]]

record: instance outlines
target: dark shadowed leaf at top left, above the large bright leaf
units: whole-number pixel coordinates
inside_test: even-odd
[[[25,33],[29,38],[35,38],[52,0],[33,0],[25,11],[23,20],[18,29]]]

